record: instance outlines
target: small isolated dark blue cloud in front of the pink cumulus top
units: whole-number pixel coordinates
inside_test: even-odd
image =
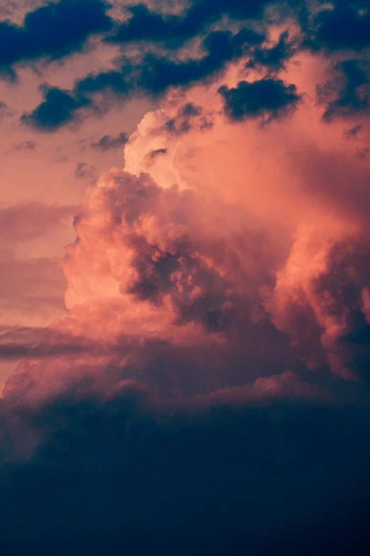
[[[218,92],[225,102],[225,114],[232,120],[262,116],[270,121],[291,114],[301,101],[296,85],[285,85],[281,80],[268,78],[240,81],[231,89],[223,85]]]

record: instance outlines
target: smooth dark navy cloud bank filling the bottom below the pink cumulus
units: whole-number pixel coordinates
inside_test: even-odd
[[[275,400],[171,413],[132,389],[18,406],[0,467],[4,555],[366,554],[369,410]],[[21,534],[20,534],[21,531]],[[361,552],[362,550],[362,552]]]

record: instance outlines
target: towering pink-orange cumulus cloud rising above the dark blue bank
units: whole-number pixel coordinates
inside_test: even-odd
[[[50,396],[50,386],[44,391],[44,382],[33,380],[36,369],[38,376],[53,369],[60,377],[54,382],[56,391],[86,374],[101,384],[101,372],[106,377],[105,369],[111,369],[103,389],[111,391],[121,377],[150,388],[156,399],[168,398],[170,392],[177,400],[242,385],[260,394],[274,388],[280,392],[280,387],[288,391],[289,384],[293,396],[313,396],[315,388],[306,380],[301,385],[302,364],[305,371],[318,369],[323,376],[330,369],[342,378],[366,378],[364,235],[356,239],[359,232],[354,233],[354,243],[347,245],[349,221],[342,220],[340,206],[333,205],[334,219],[327,216],[329,185],[320,197],[317,185],[306,183],[312,169],[299,179],[291,173],[289,156],[295,156],[296,141],[311,141],[304,111],[283,124],[291,143],[281,144],[278,127],[261,127],[253,118],[246,140],[243,122],[229,124],[220,111],[217,92],[224,80],[227,91],[235,89],[232,75],[226,75],[201,92],[194,87],[169,94],[162,109],[147,114],[125,142],[126,171],[103,174],[86,192],[74,219],[77,241],[67,247],[62,261],[70,314],[55,327],[61,334],[75,334],[77,344],[80,338],[95,344],[94,355],[82,350],[79,361],[67,353],[57,354],[52,364],[24,364],[9,381],[7,396]],[[284,82],[277,83],[285,92]],[[212,125],[205,124],[208,114]],[[336,141],[332,138],[332,148],[342,148]],[[266,149],[256,148],[259,144],[271,147],[270,166]],[[247,174],[248,187],[247,166],[238,173],[233,163],[246,148],[254,149],[248,165],[256,180]],[[204,158],[210,153],[215,170],[211,180]],[[281,175],[276,174],[274,156]],[[263,160],[265,171],[257,171]],[[354,159],[342,157],[342,163],[346,171],[356,167]],[[89,170],[80,163],[77,174],[93,180]],[[352,198],[347,217],[356,219],[356,205],[363,201]],[[312,237],[309,225],[300,227],[298,207],[303,202]],[[323,229],[316,232],[320,218]],[[364,265],[358,275],[352,270],[358,264],[352,251]],[[339,283],[347,285],[337,291]],[[174,367],[179,367],[175,374]],[[22,388],[14,387],[18,375],[26,377]],[[269,381],[270,376],[278,378]]]

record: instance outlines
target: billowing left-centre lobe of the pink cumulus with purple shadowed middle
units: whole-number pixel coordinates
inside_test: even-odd
[[[157,149],[157,156],[158,151],[166,154]],[[176,186],[163,190],[145,175],[134,178],[116,171],[107,174],[104,182],[104,187],[86,194],[84,208],[75,219],[79,239],[69,247],[65,261],[67,296],[84,299],[94,295],[94,284],[108,292],[108,284],[113,288],[116,283],[116,293],[134,300],[154,306],[169,301],[174,320],[223,329],[235,303],[224,268],[228,256],[221,237],[208,235],[206,222],[199,236],[195,232],[201,199]],[[206,217],[203,214],[203,220]],[[247,231],[245,241],[249,241]]]

